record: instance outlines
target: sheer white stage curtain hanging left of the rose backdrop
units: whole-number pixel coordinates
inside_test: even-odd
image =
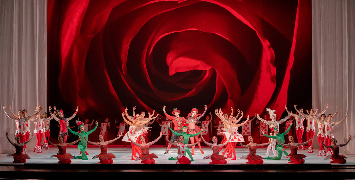
[[[15,114],[26,109],[31,115],[37,105],[47,110],[47,1],[0,1],[0,102]],[[13,153],[6,132],[15,141],[15,122],[1,109],[0,152]],[[31,133],[34,125],[30,123]],[[35,137],[27,145],[35,146]]]

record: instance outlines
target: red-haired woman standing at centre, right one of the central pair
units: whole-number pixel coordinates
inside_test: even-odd
[[[197,120],[201,119],[202,116],[204,116],[204,113],[207,111],[207,105],[204,105],[204,112],[202,114],[198,114],[198,109],[192,108],[191,112],[189,113],[186,122],[189,124],[189,128],[187,129],[187,134],[196,134],[197,132],[200,132],[200,128],[196,126]],[[201,116],[198,116],[201,115]],[[195,140],[197,141],[198,137],[190,137],[191,144],[195,143]],[[198,143],[198,148],[200,148],[200,152],[203,154],[204,152],[201,149],[201,144]],[[195,154],[195,146],[192,146],[192,152],[191,154]]]

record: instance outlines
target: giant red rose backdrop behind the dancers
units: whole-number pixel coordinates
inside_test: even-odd
[[[84,117],[207,105],[280,118],[310,104],[311,57],[308,0],[48,1],[49,104]]]

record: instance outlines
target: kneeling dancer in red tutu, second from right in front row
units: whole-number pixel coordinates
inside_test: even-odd
[[[290,162],[291,164],[303,164],[305,163],[305,160],[303,158],[307,157],[305,156],[305,154],[297,154],[297,150],[299,146],[305,145],[307,144],[309,141],[311,141],[312,139],[306,141],[306,142],[302,142],[302,143],[295,143],[293,136],[289,136],[289,144],[283,144],[281,142],[278,142],[278,144],[283,145],[283,146],[287,146],[290,148],[291,152],[289,155],[284,156],[284,158],[290,158]]]

